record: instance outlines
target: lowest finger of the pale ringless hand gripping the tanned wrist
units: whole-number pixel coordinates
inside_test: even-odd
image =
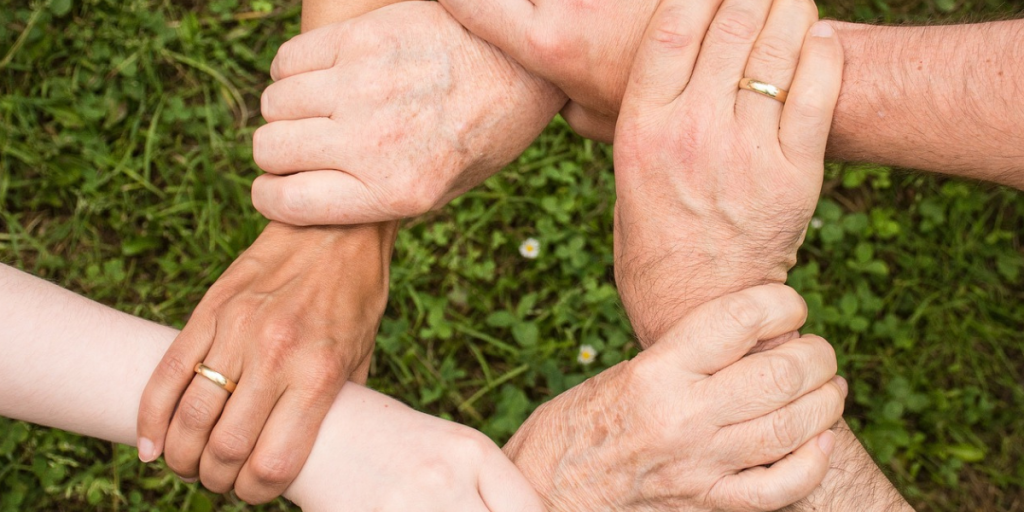
[[[270,220],[292,225],[362,224],[403,218],[382,198],[342,171],[264,174],[253,181],[256,210]]]

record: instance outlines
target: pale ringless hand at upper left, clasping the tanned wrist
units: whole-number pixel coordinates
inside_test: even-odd
[[[300,35],[271,73],[268,124],[253,136],[268,174],[253,204],[296,225],[443,206],[514,160],[565,101],[432,2]]]

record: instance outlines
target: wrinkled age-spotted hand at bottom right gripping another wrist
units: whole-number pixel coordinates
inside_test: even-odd
[[[846,382],[815,336],[745,354],[806,314],[781,285],[708,302],[633,360],[542,406],[505,452],[552,512],[796,502],[828,470],[826,430],[843,414]]]

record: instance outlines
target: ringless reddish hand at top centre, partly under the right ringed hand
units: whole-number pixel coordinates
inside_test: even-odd
[[[581,135],[610,142],[620,103],[658,0],[440,0],[473,34],[570,101],[562,117]],[[685,14],[705,26],[721,0],[694,0]],[[703,33],[690,34],[699,44]]]

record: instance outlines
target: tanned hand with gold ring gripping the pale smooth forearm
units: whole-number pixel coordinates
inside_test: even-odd
[[[181,477],[200,476],[217,493],[233,487],[250,503],[279,496],[342,384],[367,378],[393,230],[271,222],[154,372],[139,409],[139,457],[163,451]],[[230,400],[193,373],[197,362],[238,383]]]

